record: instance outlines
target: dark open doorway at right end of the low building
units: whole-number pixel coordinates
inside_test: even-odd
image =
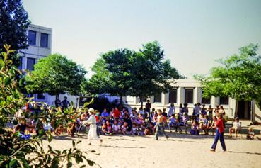
[[[237,116],[240,119],[248,119],[251,117],[251,102],[250,101],[238,101]]]

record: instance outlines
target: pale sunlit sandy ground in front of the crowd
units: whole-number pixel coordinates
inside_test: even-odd
[[[89,159],[100,167],[261,167],[261,140],[245,140],[225,137],[227,152],[210,152],[214,136],[168,133],[170,138],[153,136],[113,135],[101,136],[103,143],[93,141],[87,145],[86,137],[57,137],[51,145],[57,150],[71,147],[71,140],[81,140],[78,145],[83,151],[95,150]],[[47,145],[48,142],[45,142]],[[65,167],[65,166],[64,166]],[[75,166],[78,167],[78,166]]]

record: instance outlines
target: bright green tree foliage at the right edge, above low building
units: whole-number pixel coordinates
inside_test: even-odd
[[[261,55],[258,45],[239,49],[238,55],[219,60],[208,77],[195,76],[202,82],[204,97],[230,96],[236,100],[261,102]]]

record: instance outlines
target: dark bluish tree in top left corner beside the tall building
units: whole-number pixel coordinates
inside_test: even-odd
[[[20,64],[17,51],[28,48],[29,25],[28,13],[21,0],[0,1],[0,52],[4,51],[4,44],[11,45],[16,50],[10,55],[14,65]]]

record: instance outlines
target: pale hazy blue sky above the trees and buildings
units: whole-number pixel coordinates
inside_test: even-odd
[[[101,53],[157,40],[180,74],[208,74],[215,60],[261,45],[260,0],[23,0],[33,24],[52,28],[52,53],[91,66]],[[260,50],[259,50],[259,53]]]

